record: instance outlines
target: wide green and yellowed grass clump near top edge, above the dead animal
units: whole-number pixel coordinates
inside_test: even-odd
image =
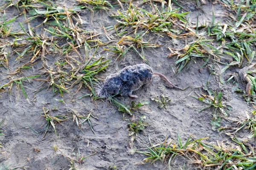
[[[131,26],[132,28],[146,28],[152,32],[166,33],[167,35],[172,36],[172,32],[180,32],[180,30],[174,29],[172,26],[176,26],[182,30],[182,27],[179,27],[175,22],[180,20],[182,23],[186,23],[186,14],[189,13],[178,13],[178,10],[179,8],[172,8],[170,1],[167,9],[165,8],[165,2],[163,1],[160,10],[156,6],[154,11],[151,12],[142,8],[137,8],[130,2],[127,11],[117,11],[117,14],[112,15],[112,17],[118,19],[116,20],[118,23],[115,25],[115,28],[120,27],[121,30],[126,26]]]

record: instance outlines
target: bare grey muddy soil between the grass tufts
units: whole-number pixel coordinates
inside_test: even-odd
[[[194,1],[188,1],[182,4],[183,11],[191,11],[188,14],[190,23],[196,24],[196,14],[200,17],[200,23],[205,23],[211,20],[212,6],[215,11],[216,19],[225,20],[225,8],[219,3],[213,3],[206,0],[207,5],[201,5],[195,7]],[[70,6],[73,1],[56,1],[59,5]],[[134,2],[135,5],[141,5],[141,2]],[[127,5],[124,7],[127,8]],[[119,6],[116,6],[114,10],[122,10]],[[111,11],[108,11],[111,14]],[[7,18],[17,16],[19,12],[14,6],[9,7],[6,10]],[[0,14],[3,16],[3,12]],[[80,12],[81,19],[84,21],[81,28],[89,31],[95,31],[96,33],[103,33],[102,26],[111,26],[116,23],[113,17],[108,17],[106,11],[101,10],[95,12],[93,15],[89,10],[83,9]],[[23,15],[17,17],[15,23],[12,23],[12,29],[20,30],[18,22],[24,20]],[[33,20],[33,26],[39,25],[44,19],[37,18]],[[199,23],[199,24],[200,24]],[[37,29],[38,32],[41,28]],[[99,36],[102,42],[107,41],[104,34]],[[195,139],[202,137],[209,137],[207,142],[216,144],[216,141],[225,141],[227,144],[230,139],[225,134],[218,133],[212,130],[210,121],[212,119],[211,109],[198,112],[206,105],[193,98],[191,95],[199,93],[197,87],[201,87],[208,81],[210,71],[209,65],[199,70],[204,63],[202,60],[195,60],[196,63],[191,63],[189,67],[185,68],[180,74],[175,74],[173,68],[175,68],[175,57],[168,58],[170,51],[167,47],[171,48],[183,48],[195,37],[186,37],[186,39],[172,39],[171,37],[160,37],[157,34],[149,33],[144,37],[144,41],[151,39],[152,42],[163,45],[159,48],[145,48],[144,54],[148,62],[154,71],[166,75],[166,77],[181,88],[190,86],[184,91],[169,88],[166,82],[160,77],[154,77],[153,82],[148,88],[139,89],[134,92],[139,98],[132,99],[129,97],[122,98],[118,96],[122,103],[127,105],[131,104],[131,101],[135,100],[139,102],[141,100],[150,100],[153,97],[160,98],[161,95],[169,96],[171,102],[168,103],[167,108],[157,108],[157,103],[151,101],[149,105],[144,105],[139,110],[134,112],[133,116],[125,114],[126,119],[136,120],[140,116],[146,116],[146,122],[148,126],[142,132],[138,133],[134,141],[134,148],[137,150],[145,150],[146,146],[150,146],[149,139],[152,143],[157,144],[163,141],[167,134],[169,134],[168,140],[177,140],[177,133],[180,134],[181,139],[186,141],[190,134]],[[11,38],[9,39],[11,40]],[[12,47],[9,48],[9,52],[12,53]],[[101,50],[98,50],[101,51]],[[79,49],[81,55],[84,55],[84,48]],[[91,51],[90,53],[93,53]],[[74,53],[75,54],[75,53]],[[104,51],[97,54],[96,57],[104,55],[106,58],[111,58],[111,52]],[[26,54],[25,54],[26,55]],[[0,84],[9,82],[9,78],[6,79],[6,73],[12,73],[18,66],[29,61],[30,58],[24,59],[21,62],[15,61],[17,54],[13,53],[9,58],[9,66],[12,70],[6,70],[0,66]],[[48,65],[54,66],[55,56],[46,55]],[[115,58],[113,58],[114,61]],[[113,67],[108,67],[105,72],[99,74],[99,77],[106,77],[111,73],[124,68],[128,65],[134,65],[142,63],[140,57],[134,53],[134,51],[128,51],[124,59],[113,64]],[[111,64],[111,65],[112,65]],[[21,74],[13,75],[11,79],[21,77],[23,75],[35,75],[40,72],[42,67],[41,62],[37,62],[32,66],[32,69],[23,71]],[[215,64],[215,72],[220,72],[223,66]],[[228,72],[226,73],[228,74]],[[244,100],[241,100],[239,96],[236,96],[231,92],[231,89],[235,85],[227,83],[222,85],[218,83],[219,77],[212,75],[208,87],[214,90],[221,90],[223,92],[223,101],[227,105],[231,105],[233,111],[229,112],[229,117],[222,119],[221,126],[231,127],[234,126],[233,121],[242,120],[246,117],[245,113],[250,113],[253,109]],[[34,97],[34,91],[38,90],[38,86],[41,82],[36,80],[24,81],[24,87],[28,99],[22,94],[22,91],[18,91],[15,85],[12,87],[11,94],[4,92],[0,94],[0,119],[5,118],[6,121],[2,126],[4,136],[0,136],[0,143],[3,148],[0,148],[0,170],[17,168],[16,170],[68,170],[70,167],[69,158],[78,159],[79,154],[81,156],[89,156],[84,160],[84,163],[76,163],[79,170],[163,170],[168,169],[166,162],[156,162],[152,165],[143,162],[145,155],[140,153],[131,153],[130,142],[131,138],[128,136],[127,120],[123,120],[122,113],[117,111],[116,108],[109,105],[105,100],[93,101],[90,97],[84,97],[75,102],[79,96],[84,93],[90,93],[87,88],[82,87],[81,90],[74,94],[64,93],[64,102],[59,102],[56,99],[61,99],[60,94],[53,94],[51,89],[41,91]],[[243,87],[243,85],[241,85]],[[76,88],[74,88],[75,90]],[[68,119],[61,124],[56,124],[57,136],[53,129],[45,135],[45,118],[42,108],[51,109],[50,115],[61,115],[72,117],[72,110],[78,112],[79,115],[86,116],[89,112],[97,118],[91,117],[91,124],[95,134],[90,129],[90,126],[86,123],[81,125],[81,129],[84,134],[81,133],[73,119]],[[29,126],[38,132],[32,131]],[[245,134],[244,134],[245,135]],[[56,148],[57,149],[54,149]],[[39,151],[40,150],[40,151]],[[95,153],[95,154],[94,154]],[[186,170],[198,169],[194,164],[185,164],[186,158],[176,157],[171,165],[173,169]]]

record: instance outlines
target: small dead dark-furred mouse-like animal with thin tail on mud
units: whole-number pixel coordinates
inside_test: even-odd
[[[146,64],[131,65],[123,68],[121,71],[111,74],[106,77],[105,82],[97,85],[96,91],[99,97],[109,98],[111,94],[120,94],[122,96],[130,96],[137,98],[133,95],[133,91],[137,91],[140,87],[148,87],[152,82],[153,75],[162,77],[169,85],[174,88],[185,90],[172,84],[164,75],[154,73],[152,68]]]

